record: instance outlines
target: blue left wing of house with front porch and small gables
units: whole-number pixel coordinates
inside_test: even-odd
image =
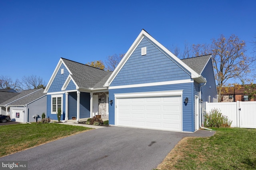
[[[87,119],[101,115],[108,119],[108,88],[104,83],[111,72],[60,58],[44,93],[47,93],[47,116],[57,120]]]

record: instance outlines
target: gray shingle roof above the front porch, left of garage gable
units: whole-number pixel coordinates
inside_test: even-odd
[[[102,88],[112,72],[62,58],[79,88]],[[106,81],[103,81],[106,80]]]

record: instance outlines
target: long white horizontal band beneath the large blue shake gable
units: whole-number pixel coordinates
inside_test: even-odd
[[[133,87],[148,87],[148,86],[158,86],[158,85],[173,85],[181,83],[193,83],[193,79],[184,79],[184,80],[174,80],[174,81],[162,81],[156,83],[142,83],[135,85],[120,85],[120,86],[110,86],[109,89],[124,89],[124,88],[133,88]]]

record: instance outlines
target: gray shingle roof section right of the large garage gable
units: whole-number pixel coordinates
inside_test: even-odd
[[[208,63],[211,55],[203,55],[198,57],[192,57],[187,59],[181,59],[188,67],[196,71],[199,75],[202,73],[205,65]]]

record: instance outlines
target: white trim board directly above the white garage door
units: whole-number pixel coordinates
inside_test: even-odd
[[[139,92],[139,93],[117,93],[114,94],[115,98],[120,97],[153,97],[153,96],[172,96],[182,95],[183,90],[170,90],[170,91],[152,91],[152,92]]]

